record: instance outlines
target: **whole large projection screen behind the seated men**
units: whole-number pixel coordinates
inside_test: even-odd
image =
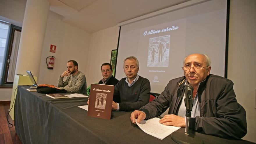
[[[116,78],[125,77],[123,61],[136,56],[138,74],[151,92],[184,75],[183,61],[192,53],[211,58],[211,74],[224,76],[227,1],[210,0],[121,26]]]

